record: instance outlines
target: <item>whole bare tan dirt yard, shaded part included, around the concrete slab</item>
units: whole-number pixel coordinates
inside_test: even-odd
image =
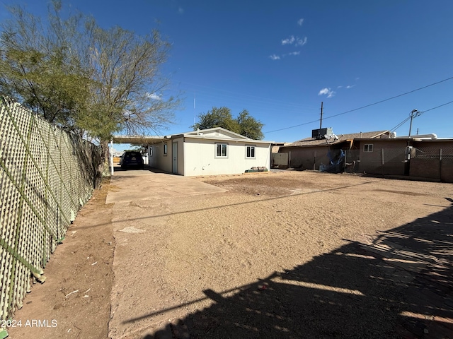
[[[57,326],[11,338],[447,338],[396,331],[423,306],[406,290],[428,254],[400,269],[363,246],[446,230],[451,247],[452,184],[308,171],[197,180],[227,191],[113,206],[105,183],[16,312]],[[140,232],[120,232],[125,220]]]

